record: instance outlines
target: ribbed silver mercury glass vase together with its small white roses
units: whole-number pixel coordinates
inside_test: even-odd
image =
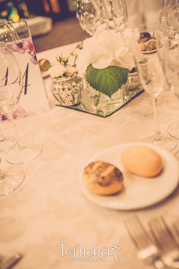
[[[75,63],[79,51],[79,49],[74,49],[72,54],[58,54],[56,56],[57,65],[45,65],[53,80],[52,94],[62,106],[76,106],[82,98],[83,81],[81,77],[78,77],[78,69]],[[68,59],[71,56],[75,57],[73,65],[68,64]]]

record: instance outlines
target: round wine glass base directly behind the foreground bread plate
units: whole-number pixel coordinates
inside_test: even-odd
[[[145,143],[154,144],[172,151],[177,146],[177,140],[169,135],[162,135],[162,139],[156,139],[155,135],[149,136],[143,140]]]

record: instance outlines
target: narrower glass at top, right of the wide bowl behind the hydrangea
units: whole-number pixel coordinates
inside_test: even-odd
[[[125,0],[110,0],[111,13],[116,32],[123,33],[127,27],[127,8]]]

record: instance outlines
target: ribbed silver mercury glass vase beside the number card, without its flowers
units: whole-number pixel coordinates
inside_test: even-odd
[[[77,72],[67,77],[52,78],[51,92],[62,106],[77,106],[83,95],[83,81]]]

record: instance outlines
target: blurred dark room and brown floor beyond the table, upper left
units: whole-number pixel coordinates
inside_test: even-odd
[[[36,53],[89,37],[76,18],[77,0],[0,0],[0,19],[27,19]]]

